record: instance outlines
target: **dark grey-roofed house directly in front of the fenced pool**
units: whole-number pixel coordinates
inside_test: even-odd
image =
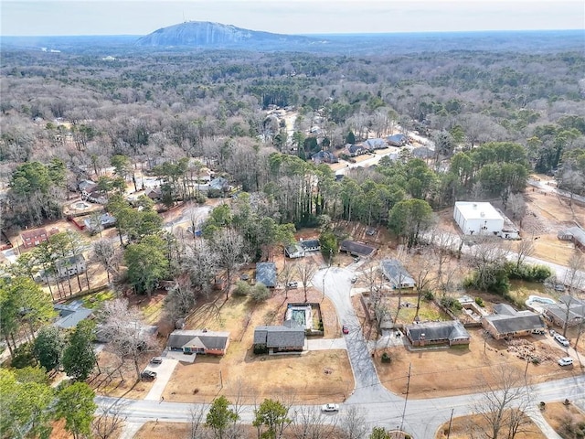
[[[304,349],[304,328],[293,320],[282,326],[256,327],[254,329],[254,352],[301,352]]]

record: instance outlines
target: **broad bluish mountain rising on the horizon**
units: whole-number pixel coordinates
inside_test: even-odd
[[[152,34],[139,38],[136,45],[197,48],[250,48],[256,45],[269,45],[276,48],[316,41],[318,40],[311,37],[272,34],[208,21],[187,21],[155,30]]]

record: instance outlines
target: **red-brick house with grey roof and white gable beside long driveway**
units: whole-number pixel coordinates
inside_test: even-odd
[[[181,350],[184,354],[225,355],[228,346],[229,332],[207,329],[176,329],[166,340],[166,348]]]

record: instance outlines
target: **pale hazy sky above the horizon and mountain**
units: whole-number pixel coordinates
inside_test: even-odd
[[[283,34],[583,29],[583,0],[0,0],[5,36],[145,35],[184,20]]]

